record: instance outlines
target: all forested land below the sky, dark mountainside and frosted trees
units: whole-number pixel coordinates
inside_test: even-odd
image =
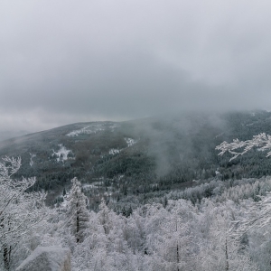
[[[216,151],[271,134],[270,117],[84,123],[1,142],[24,161],[0,163],[0,269],[61,246],[75,271],[270,270],[269,137],[231,162]]]

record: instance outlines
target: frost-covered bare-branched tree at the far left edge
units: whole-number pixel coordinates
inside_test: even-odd
[[[20,158],[5,157],[0,163],[0,252],[5,270],[10,269],[14,247],[42,221],[44,213],[46,195],[26,192],[35,178],[12,178],[20,166]]]

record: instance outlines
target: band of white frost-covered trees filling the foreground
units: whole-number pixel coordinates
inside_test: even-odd
[[[74,271],[270,270],[270,177],[212,181],[126,215],[105,201],[89,211],[76,178],[50,209],[45,194],[25,192],[33,179],[10,178],[19,166],[0,164],[1,270],[15,270],[37,246],[70,248]]]

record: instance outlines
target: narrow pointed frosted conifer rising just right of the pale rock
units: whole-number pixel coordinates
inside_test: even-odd
[[[89,210],[87,209],[87,197],[82,192],[81,182],[77,178],[71,180],[72,187],[68,196],[69,211],[68,225],[71,234],[76,238],[76,242],[84,239],[84,230],[89,225]]]

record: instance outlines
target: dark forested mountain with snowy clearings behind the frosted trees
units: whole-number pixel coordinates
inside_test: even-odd
[[[266,111],[78,123],[0,142],[0,155],[21,156],[20,176],[36,176],[33,189],[48,192],[48,202],[63,201],[77,177],[96,209],[101,198],[146,202],[213,178],[271,175],[270,158],[257,149],[230,163],[215,151],[262,132],[271,134]]]

